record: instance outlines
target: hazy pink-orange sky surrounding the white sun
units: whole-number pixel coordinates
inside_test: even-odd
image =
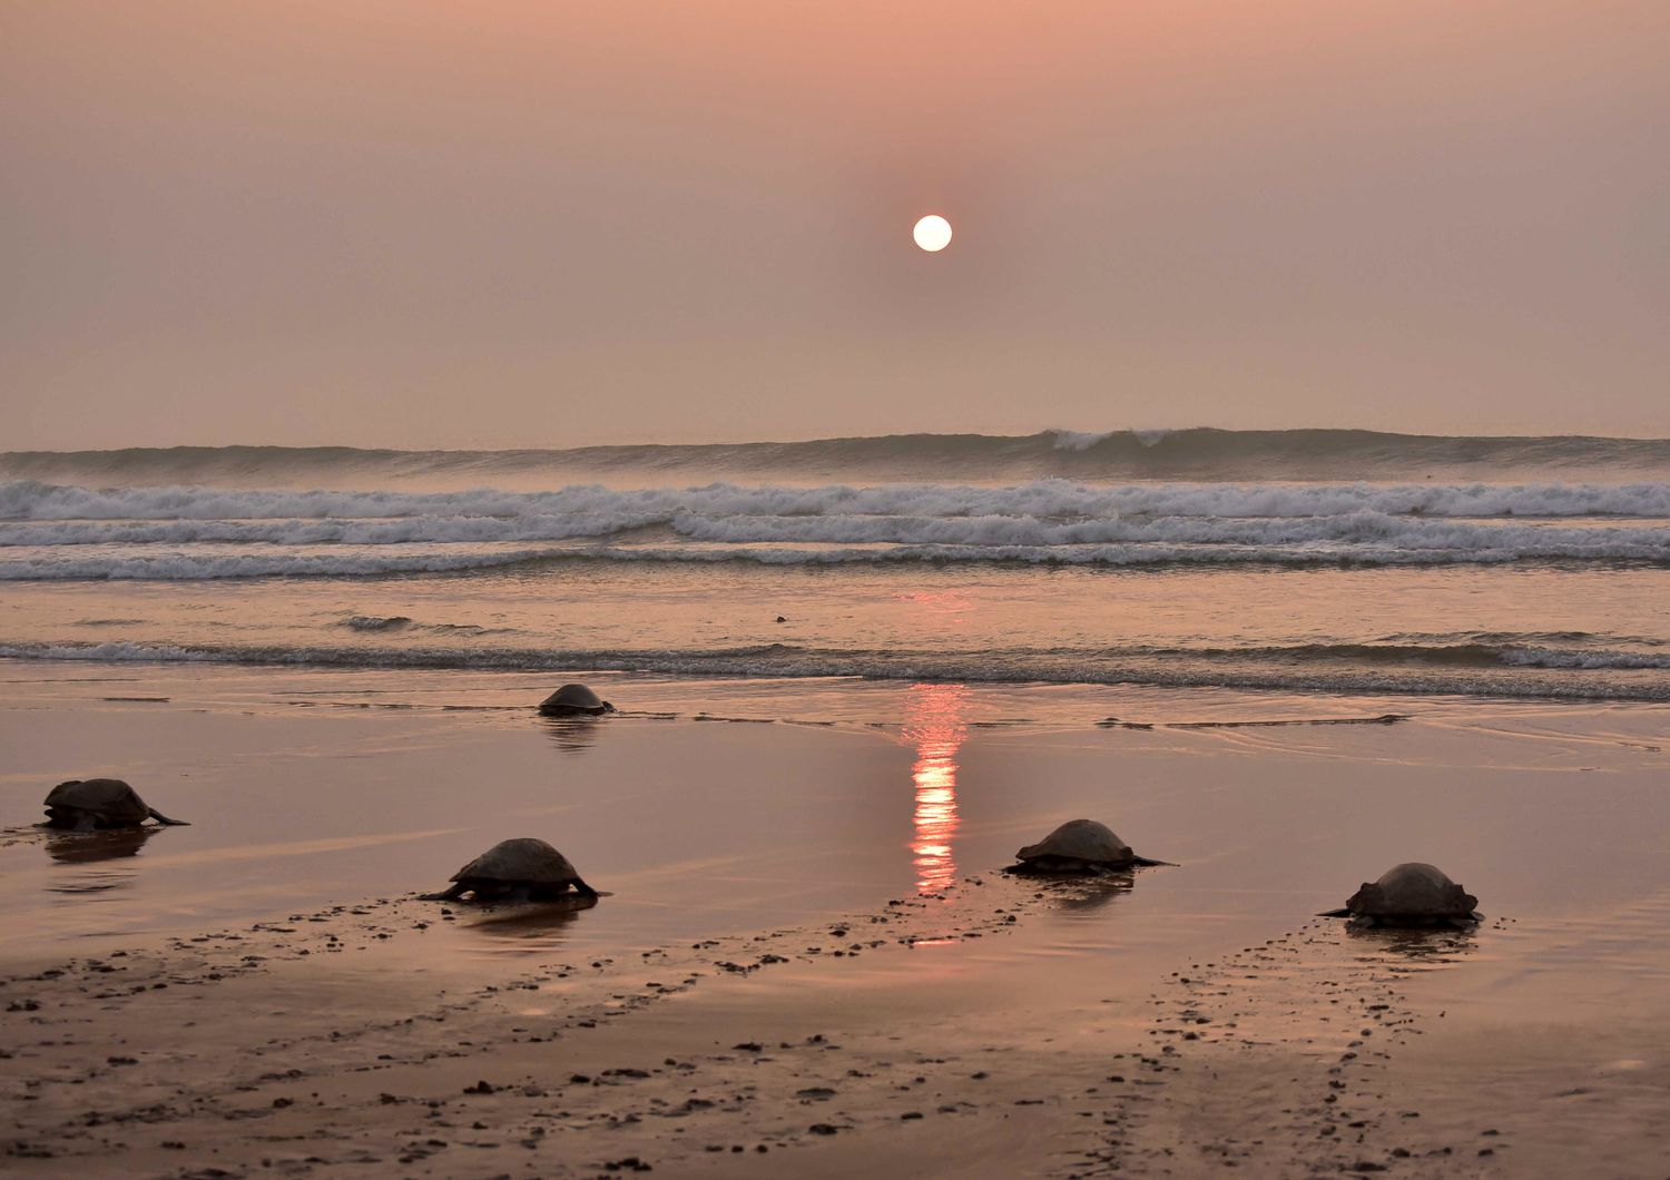
[[[0,160],[0,449],[1670,436],[1665,0],[7,0]]]

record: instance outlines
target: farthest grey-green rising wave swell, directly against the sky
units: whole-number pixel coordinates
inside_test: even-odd
[[[262,482],[354,477],[382,484],[541,472],[676,474],[822,471],[845,479],[1338,479],[1433,472],[1670,471],[1670,439],[1423,436],[1381,431],[1042,431],[1027,436],[893,434],[807,442],[640,444],[526,451],[356,447],[134,447],[0,452],[0,477],[99,482]]]

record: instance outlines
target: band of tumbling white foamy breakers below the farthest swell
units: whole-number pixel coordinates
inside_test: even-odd
[[[1670,562],[1670,484],[1101,487],[1047,479],[412,494],[12,482],[0,486],[0,509],[12,517],[0,521],[0,581],[377,576],[561,557]]]

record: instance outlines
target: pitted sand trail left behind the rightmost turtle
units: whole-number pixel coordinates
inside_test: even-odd
[[[1072,1175],[1488,1173],[1506,1140],[1428,1133],[1388,1077],[1443,1018],[1421,1008],[1421,976],[1475,950],[1471,931],[1319,920],[1172,971],[1149,996],[1151,1050],[1111,1061],[1104,1142]]]

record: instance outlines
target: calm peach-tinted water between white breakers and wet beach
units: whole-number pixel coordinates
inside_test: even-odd
[[[10,582],[0,656],[1670,699],[1670,569],[578,561]]]

